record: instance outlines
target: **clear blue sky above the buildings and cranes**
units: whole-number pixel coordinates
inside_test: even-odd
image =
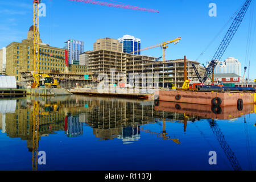
[[[102,0],[104,2],[112,2]],[[40,17],[40,38],[51,46],[64,47],[68,39],[85,42],[84,51],[93,50],[93,43],[98,38],[120,38],[125,34],[140,38],[142,48],[153,46],[167,40],[182,37],[179,44],[170,44],[167,59],[180,59],[184,55],[196,60],[234,12],[240,9],[245,0],[118,0],[119,2],[158,9],[159,13],[148,13],[115,7],[90,5],[68,0],[43,0],[46,3],[46,17]],[[208,15],[209,3],[216,3],[217,17]],[[247,36],[251,10],[255,11],[255,3],[251,4],[237,34],[224,53],[222,60],[235,57],[243,67],[250,59],[250,78],[256,78],[255,20],[249,49],[246,58]],[[32,25],[32,0],[0,0],[0,47],[11,42],[20,42],[27,37],[28,28]],[[230,25],[230,24],[229,24]],[[212,59],[229,25],[214,39],[199,62]],[[144,55],[162,56],[160,48],[143,51]],[[247,73],[246,73],[247,76]]]

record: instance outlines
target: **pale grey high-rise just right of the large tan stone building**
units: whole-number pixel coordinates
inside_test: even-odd
[[[79,64],[79,55],[84,52],[84,42],[71,39],[65,42],[64,48],[68,49],[68,63]]]

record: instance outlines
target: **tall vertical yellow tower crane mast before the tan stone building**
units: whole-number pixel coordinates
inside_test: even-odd
[[[37,88],[39,86],[39,4],[41,3],[41,0],[33,0],[33,23],[34,23],[34,39],[33,39],[33,51],[34,51],[34,70],[33,70],[33,84],[32,88]]]

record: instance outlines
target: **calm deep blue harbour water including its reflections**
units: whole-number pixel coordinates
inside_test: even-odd
[[[2,99],[0,170],[255,170],[255,108],[86,96]],[[45,165],[36,163],[43,156],[36,151],[45,152]],[[208,162],[210,151],[216,165]]]

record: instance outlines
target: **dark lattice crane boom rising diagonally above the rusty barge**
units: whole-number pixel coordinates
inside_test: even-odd
[[[222,40],[220,46],[218,47],[216,53],[214,54],[212,61],[210,61],[210,63],[208,64],[207,70],[204,73],[203,82],[207,81],[209,75],[212,75],[212,72],[216,67],[218,61],[223,56],[224,52],[226,51],[226,48],[229,46],[229,43],[233,39],[238,28],[240,27],[240,24],[242,23],[242,20],[245,17],[245,14],[250,6],[250,3],[251,0],[246,0],[244,5],[242,6],[242,9],[238,12],[236,18],[233,20],[231,26],[229,27],[228,32],[226,32],[224,39]]]

